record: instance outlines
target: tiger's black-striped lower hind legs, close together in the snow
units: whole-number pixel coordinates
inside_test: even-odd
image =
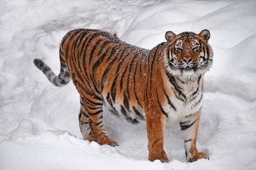
[[[103,126],[102,101],[94,98],[82,97],[79,125],[84,139],[95,141],[100,145],[108,144],[117,146],[106,134]]]

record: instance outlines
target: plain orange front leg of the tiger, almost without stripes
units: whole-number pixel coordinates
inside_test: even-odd
[[[146,114],[148,136],[148,160],[156,159],[161,162],[169,162],[164,152],[164,125],[166,117],[163,114],[150,111]]]

